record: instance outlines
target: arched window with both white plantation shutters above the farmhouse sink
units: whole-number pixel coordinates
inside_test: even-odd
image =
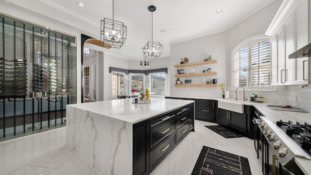
[[[233,52],[233,86],[270,85],[270,41],[256,38]]]

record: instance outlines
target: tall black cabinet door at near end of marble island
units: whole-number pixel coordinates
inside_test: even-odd
[[[133,175],[149,174],[149,120],[133,125]]]

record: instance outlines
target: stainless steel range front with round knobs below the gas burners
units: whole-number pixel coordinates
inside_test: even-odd
[[[258,113],[259,115],[260,113]],[[254,141],[257,146],[258,157],[261,158],[261,168],[264,175],[304,175],[294,162],[294,157],[299,156],[299,151],[276,124],[261,119],[254,119],[258,124],[259,137]],[[259,148],[260,146],[260,148]],[[261,153],[260,153],[261,152]]]

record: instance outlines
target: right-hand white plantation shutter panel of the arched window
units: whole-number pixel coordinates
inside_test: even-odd
[[[269,85],[270,42],[261,41],[251,46],[251,86]]]

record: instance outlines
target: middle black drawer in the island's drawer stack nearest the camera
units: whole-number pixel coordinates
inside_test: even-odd
[[[160,127],[151,131],[151,147],[155,146],[160,140],[175,131],[175,119],[171,119],[167,123],[158,124]]]

